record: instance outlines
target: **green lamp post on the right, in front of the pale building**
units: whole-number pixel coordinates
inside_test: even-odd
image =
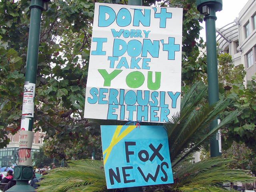
[[[204,14],[206,25],[206,54],[208,75],[208,99],[209,105],[219,100],[218,90],[218,68],[216,49],[216,12],[222,10],[222,0],[196,0],[196,6],[201,14]],[[210,124],[212,130],[218,124],[218,118]],[[215,134],[210,141],[210,155],[216,157],[221,155],[219,134]]]

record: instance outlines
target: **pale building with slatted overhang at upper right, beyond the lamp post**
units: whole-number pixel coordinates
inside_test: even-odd
[[[216,29],[220,53],[229,53],[235,66],[244,65],[246,82],[256,73],[256,0],[248,0],[234,22]]]

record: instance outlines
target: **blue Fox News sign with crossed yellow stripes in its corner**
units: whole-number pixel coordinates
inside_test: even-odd
[[[163,126],[101,126],[107,188],[173,183]]]

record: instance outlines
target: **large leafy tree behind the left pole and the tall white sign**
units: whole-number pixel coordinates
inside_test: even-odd
[[[182,82],[192,84],[206,72],[204,58],[199,59],[201,62],[196,60],[199,47],[204,47],[199,37],[203,16],[196,10],[196,0],[165,1],[157,5],[183,8]],[[5,138],[8,132],[14,134],[20,129],[29,1],[2,0],[0,14],[0,136]],[[93,15],[91,0],[50,1],[48,10],[42,12],[34,126],[46,131],[46,139],[52,138],[46,153],[55,158],[88,158],[94,150],[96,154],[100,151],[99,122],[83,118]],[[8,142],[1,139],[0,147]],[[64,154],[64,150],[60,152],[63,143],[69,148]]]

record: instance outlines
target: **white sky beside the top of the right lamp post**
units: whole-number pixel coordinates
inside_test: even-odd
[[[216,28],[221,28],[233,22],[247,2],[248,0],[222,0],[222,11],[216,12]],[[204,29],[200,31],[200,36],[206,41],[205,22],[201,26]]]

